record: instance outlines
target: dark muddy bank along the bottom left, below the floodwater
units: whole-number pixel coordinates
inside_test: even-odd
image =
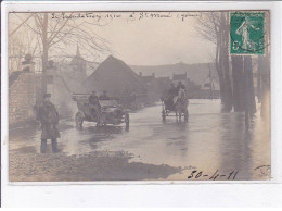
[[[10,154],[10,182],[81,182],[164,179],[181,171],[169,165],[129,163],[124,152]]]

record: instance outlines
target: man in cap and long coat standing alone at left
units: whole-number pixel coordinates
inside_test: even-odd
[[[52,151],[57,152],[56,139],[60,138],[60,132],[56,128],[59,124],[59,113],[50,101],[51,94],[43,96],[43,104],[39,107],[39,120],[42,127],[41,134],[41,153],[46,152],[47,139],[52,141]]]

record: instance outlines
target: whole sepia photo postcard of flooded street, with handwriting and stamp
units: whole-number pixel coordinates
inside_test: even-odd
[[[270,181],[270,13],[9,13],[9,182]]]

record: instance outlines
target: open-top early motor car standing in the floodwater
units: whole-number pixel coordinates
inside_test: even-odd
[[[89,105],[89,96],[86,94],[73,95],[74,101],[77,103],[78,112],[75,115],[76,126],[81,127],[84,121],[95,122],[97,126],[105,126],[107,124],[119,125],[126,124],[126,129],[129,129],[129,113],[124,111],[116,100],[99,100],[101,109],[95,115],[91,112]]]

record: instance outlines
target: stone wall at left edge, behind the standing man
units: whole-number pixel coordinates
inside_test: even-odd
[[[39,76],[23,72],[9,88],[9,125],[35,122],[36,90]]]

